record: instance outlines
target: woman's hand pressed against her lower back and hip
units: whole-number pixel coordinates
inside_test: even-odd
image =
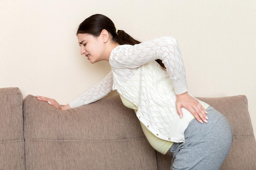
[[[189,112],[197,119],[200,123],[208,123],[207,111],[205,108],[198,102],[197,99],[188,94],[188,92],[177,95],[176,100],[177,113],[180,117],[183,117],[181,108],[189,110]]]

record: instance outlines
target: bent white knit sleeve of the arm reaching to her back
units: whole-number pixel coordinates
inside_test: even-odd
[[[140,44],[117,46],[110,55],[112,68],[137,68],[150,61],[160,59],[166,67],[176,94],[187,91],[186,74],[177,41],[173,37],[162,37]]]

